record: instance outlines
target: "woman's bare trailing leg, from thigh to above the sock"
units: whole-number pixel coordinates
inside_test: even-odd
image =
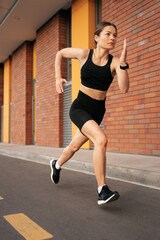
[[[62,155],[58,159],[59,166],[62,166],[65,162],[67,162],[86,141],[88,141],[88,138],[85,137],[78,129],[71,143],[63,150]]]

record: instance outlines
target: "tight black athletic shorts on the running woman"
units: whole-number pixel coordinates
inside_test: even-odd
[[[70,108],[70,118],[79,128],[89,121],[94,120],[100,125],[105,113],[105,100],[96,100],[79,91],[78,97],[74,100]]]

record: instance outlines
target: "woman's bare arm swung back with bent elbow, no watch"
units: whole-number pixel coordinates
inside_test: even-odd
[[[55,79],[56,79],[56,91],[58,93],[63,92],[63,83],[67,83],[67,80],[61,76],[61,63],[62,58],[78,59],[80,65],[83,65],[85,58],[87,57],[88,49],[82,48],[63,48],[56,54],[55,59]]]

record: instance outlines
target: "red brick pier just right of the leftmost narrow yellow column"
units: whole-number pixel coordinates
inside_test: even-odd
[[[32,43],[12,56],[12,143],[32,144]]]

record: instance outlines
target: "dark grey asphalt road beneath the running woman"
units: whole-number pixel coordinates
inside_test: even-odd
[[[159,240],[160,191],[107,182],[120,199],[98,206],[94,176],[63,169],[54,185],[48,165],[0,156],[0,240],[24,239],[4,218],[17,213],[55,240]]]

